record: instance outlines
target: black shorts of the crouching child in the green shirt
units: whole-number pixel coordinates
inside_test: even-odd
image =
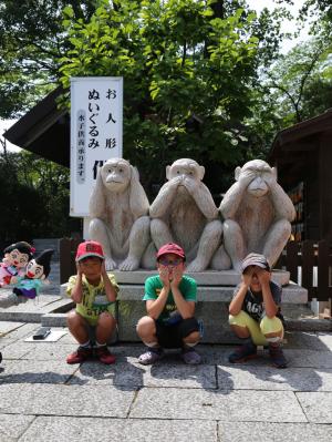
[[[158,321],[155,321],[155,323],[158,343],[164,348],[180,348],[184,346],[184,338],[193,333],[193,331],[199,331],[199,325],[195,318],[181,319],[170,326]]]

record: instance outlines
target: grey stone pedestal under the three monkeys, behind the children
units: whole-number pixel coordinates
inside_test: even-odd
[[[144,281],[156,271],[114,271],[120,285],[117,323],[120,341],[139,341],[136,335],[136,323],[146,315]],[[232,298],[235,287],[240,281],[240,274],[235,270],[203,271],[188,274],[196,279],[197,307],[195,317],[203,321],[206,343],[234,343],[236,337],[228,326],[228,305]],[[305,305],[308,291],[289,280],[289,273],[273,270],[272,280],[282,285],[283,305]],[[62,294],[65,285],[62,286]]]

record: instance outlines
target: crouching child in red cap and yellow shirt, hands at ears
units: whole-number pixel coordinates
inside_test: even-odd
[[[68,294],[76,308],[68,316],[68,327],[80,346],[66,362],[81,363],[95,356],[103,363],[114,363],[115,356],[108,351],[107,341],[116,328],[118,286],[114,275],[106,273],[100,243],[81,243],[75,260],[77,274],[70,277]]]

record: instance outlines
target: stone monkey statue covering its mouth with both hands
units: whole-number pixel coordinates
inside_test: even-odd
[[[188,271],[205,270],[220,245],[222,224],[209,189],[201,179],[205,168],[189,158],[166,167],[168,182],[149,208],[151,233],[158,249],[179,244],[186,253]]]

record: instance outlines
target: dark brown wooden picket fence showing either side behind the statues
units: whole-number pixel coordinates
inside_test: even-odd
[[[76,274],[75,253],[81,241],[80,238],[59,241],[61,284]],[[308,289],[309,300],[332,298],[332,244],[325,240],[290,241],[274,267],[290,271],[290,279]]]

